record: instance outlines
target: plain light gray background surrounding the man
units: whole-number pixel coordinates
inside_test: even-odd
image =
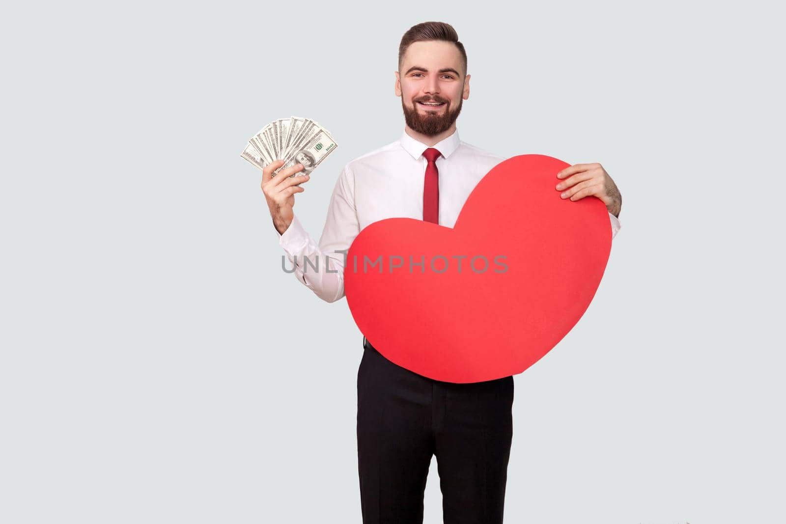
[[[331,131],[296,196],[318,239],[343,165],[402,133],[425,20],[468,51],[464,141],[600,162],[623,193],[592,305],[516,376],[506,522],[786,519],[772,5],[5,11],[3,522],[360,522],[362,335],[282,273],[238,154],[289,115]]]

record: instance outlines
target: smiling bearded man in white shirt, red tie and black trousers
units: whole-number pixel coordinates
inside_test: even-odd
[[[459,140],[456,119],[469,98],[469,79],[464,46],[450,24],[425,22],[406,31],[395,71],[404,132],[343,168],[319,243],[292,211],[294,193],[304,190],[301,184],[309,175],[288,177],[303,165],[282,170],[284,176],[277,177],[271,174],[282,160],[263,169],[262,188],[279,243],[299,282],[325,302],[343,297],[344,256],[366,225],[404,217],[453,227],[478,181],[505,159]],[[613,238],[621,227],[617,216],[622,197],[600,164],[575,164],[556,178],[561,179],[555,180],[555,189],[562,198],[603,200]],[[443,522],[502,522],[513,377],[441,382],[395,365],[365,336],[363,348],[357,437],[364,524],[423,522],[432,456],[443,493]]]

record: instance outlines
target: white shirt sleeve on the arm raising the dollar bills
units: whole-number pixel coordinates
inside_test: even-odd
[[[297,216],[278,243],[284,248],[297,280],[325,302],[344,295],[343,268],[347,250],[360,233],[354,205],[354,178],[344,167],[333,188],[319,244],[303,229]]]

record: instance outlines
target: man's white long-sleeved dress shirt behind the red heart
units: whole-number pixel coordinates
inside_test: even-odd
[[[296,215],[284,234],[279,234],[279,244],[291,264],[288,267],[294,265],[297,279],[320,299],[336,302],[343,297],[344,257],[354,237],[366,225],[384,218],[423,220],[423,185],[428,163],[423,152],[428,147],[405,131],[399,140],[347,163],[330,197],[319,244],[303,229]],[[472,189],[505,158],[459,140],[458,130],[431,147],[442,153],[436,160],[439,225],[452,228]],[[613,239],[622,224],[611,213],[609,218]],[[306,265],[305,258],[310,264]]]

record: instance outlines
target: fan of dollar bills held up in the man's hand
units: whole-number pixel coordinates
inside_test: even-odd
[[[290,116],[267,124],[248,141],[241,156],[259,169],[276,160],[284,160],[273,176],[282,169],[302,163],[303,169],[290,175],[294,177],[310,174],[337,147],[328,131],[314,120]]]

